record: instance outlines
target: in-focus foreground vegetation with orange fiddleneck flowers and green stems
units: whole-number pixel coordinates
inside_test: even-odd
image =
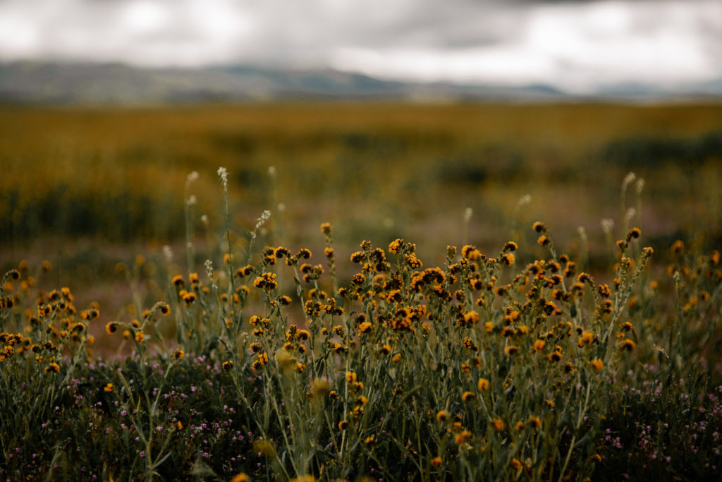
[[[170,249],[152,272],[119,264],[134,290],[118,317],[38,292],[49,263],[6,273],[0,475],[720,477],[722,266],[704,234],[652,249],[633,216],[617,236],[607,222],[592,274],[540,222],[495,251],[450,245],[438,266],[401,238],[342,256],[328,223],[312,253],[264,246],[269,212],[239,233],[219,176],[222,249],[195,267],[189,242],[184,273]],[[95,357],[98,323],[132,351]]]

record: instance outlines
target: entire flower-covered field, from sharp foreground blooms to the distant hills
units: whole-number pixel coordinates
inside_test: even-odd
[[[0,478],[722,480],[718,106],[316,107],[0,108]]]

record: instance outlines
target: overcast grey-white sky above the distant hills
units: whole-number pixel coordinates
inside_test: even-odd
[[[722,0],[0,0],[21,59],[674,87],[722,78]]]

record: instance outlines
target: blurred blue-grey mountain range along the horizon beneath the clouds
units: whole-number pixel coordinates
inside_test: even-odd
[[[722,78],[661,88],[615,84],[591,95],[552,85],[394,82],[331,69],[227,65],[200,69],[125,64],[17,61],[0,64],[0,103],[143,105],[251,100],[709,100],[722,99]]]

